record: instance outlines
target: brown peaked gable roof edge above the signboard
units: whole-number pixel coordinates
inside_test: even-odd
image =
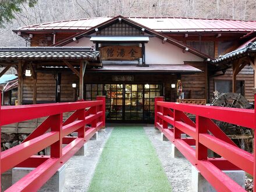
[[[204,59],[208,59],[208,58],[209,59],[214,59],[211,56],[198,51],[197,49],[189,47],[188,45],[183,44],[182,42],[179,42],[179,41],[177,41],[177,40],[175,40],[173,38],[170,38],[170,37],[166,36],[165,34],[159,33],[158,31],[152,30],[152,29],[150,29],[148,27],[145,27],[145,26],[143,26],[143,25],[141,25],[139,23],[136,23],[133,20],[127,19],[126,17],[123,17],[123,16],[113,17],[112,19],[110,19],[110,20],[108,20],[108,21],[106,21],[104,23],[101,23],[101,24],[98,24],[97,26],[91,27],[88,30],[81,31],[78,34],[74,34],[71,37],[68,37],[68,38],[66,38],[66,39],[64,39],[62,41],[59,41],[56,44],[53,44],[51,46],[62,46],[62,45],[65,45],[65,44],[67,44],[69,42],[72,42],[73,38],[81,38],[81,37],[83,37],[83,35],[88,35],[90,33],[94,33],[96,28],[99,28],[99,27],[103,28],[104,26],[107,26],[109,24],[115,23],[118,19],[125,20],[125,22],[127,22],[127,23],[129,23],[129,24],[131,24],[133,26],[140,27],[141,29],[144,28],[145,29],[145,33],[154,34],[158,38],[166,39],[166,41],[170,42],[171,44],[176,45],[177,47],[180,47],[180,48],[183,48],[183,49],[189,48],[189,52],[191,52],[191,53],[193,53],[195,55],[198,55],[201,58],[204,58]]]

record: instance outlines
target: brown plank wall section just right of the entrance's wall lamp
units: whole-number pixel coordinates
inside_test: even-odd
[[[207,64],[202,62],[186,62],[186,64],[202,70],[202,73],[182,74],[182,87],[185,99],[207,99]]]

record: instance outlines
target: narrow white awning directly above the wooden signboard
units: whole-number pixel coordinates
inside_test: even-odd
[[[90,41],[93,42],[148,42],[150,38],[148,36],[94,36]]]

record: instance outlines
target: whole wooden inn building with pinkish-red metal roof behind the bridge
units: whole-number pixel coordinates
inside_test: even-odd
[[[230,86],[232,68],[212,61],[253,41],[255,29],[256,22],[123,16],[35,24],[13,30],[31,47],[2,48],[0,60],[17,66],[19,104],[106,95],[107,121],[146,123],[154,120],[154,97],[176,101],[177,80],[185,99],[207,102]],[[250,100],[253,76],[250,66],[237,74],[237,90]]]

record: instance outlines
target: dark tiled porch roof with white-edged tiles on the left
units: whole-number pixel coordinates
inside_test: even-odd
[[[88,47],[0,47],[0,59],[95,59]]]

